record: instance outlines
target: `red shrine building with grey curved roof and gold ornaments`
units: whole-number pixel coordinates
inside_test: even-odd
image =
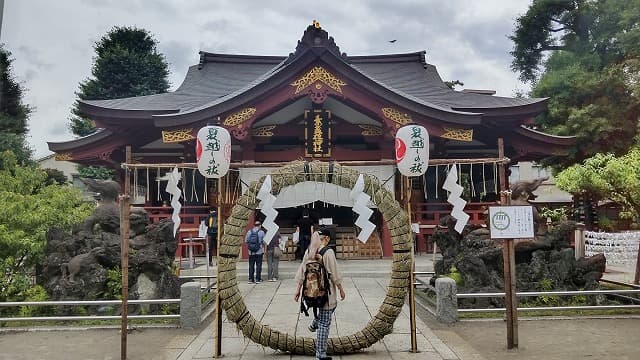
[[[49,149],[58,160],[113,168],[123,183],[121,164],[141,164],[131,171],[129,193],[158,221],[170,216],[164,175],[171,164],[195,162],[196,133],[207,124],[219,121],[232,137],[231,171],[222,190],[226,213],[248,184],[294,160],[336,161],[374,175],[402,203],[394,136],[399,127],[418,124],[429,133],[431,161],[461,159],[455,166],[465,188],[465,212],[471,223],[481,224],[507,176],[500,179],[495,160],[471,160],[497,159],[501,141],[510,164],[561,156],[574,142],[527,127],[545,111],[547,99],[493,93],[450,89],[424,51],[349,56],[314,21],[288,56],[200,52],[199,63],[173,92],[80,100],[80,110],[98,130],[50,142]],[[442,189],[450,166],[430,165],[425,175],[411,180],[420,252],[431,250],[429,236],[451,211]],[[218,188],[217,180],[205,179],[193,166],[180,171],[181,236],[188,236],[209,206],[217,205]],[[338,258],[391,256],[390,235],[375,209],[376,231],[366,244],[355,240],[349,191],[314,182],[286,188],[275,204],[276,223],[290,235],[307,209],[314,221],[336,232]]]

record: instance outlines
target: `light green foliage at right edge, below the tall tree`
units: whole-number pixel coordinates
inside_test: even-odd
[[[556,184],[573,194],[609,199],[623,208],[621,217],[640,220],[640,148],[624,156],[597,154],[558,174]]]

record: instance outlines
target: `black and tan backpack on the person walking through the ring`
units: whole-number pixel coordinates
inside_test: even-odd
[[[303,312],[306,316],[309,316],[308,309],[313,308],[313,315],[318,317],[318,309],[329,301],[329,294],[331,293],[329,274],[322,260],[322,256],[327,250],[329,250],[328,246],[323,247],[318,251],[318,254],[320,254],[319,260],[311,258],[305,264],[300,312]]]

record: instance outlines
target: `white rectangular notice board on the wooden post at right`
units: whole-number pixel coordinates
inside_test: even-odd
[[[532,238],[534,234],[533,207],[491,206],[489,227],[492,239]]]

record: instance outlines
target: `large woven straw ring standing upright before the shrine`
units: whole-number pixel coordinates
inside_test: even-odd
[[[304,162],[296,161],[274,170],[271,173],[272,192],[280,193],[287,186],[303,181],[327,182],[329,163],[311,162],[308,173],[305,173]],[[333,165],[331,183],[351,189],[358,179],[359,173],[346,166]],[[307,179],[308,177],[308,179]],[[227,318],[237,324],[242,334],[253,342],[268,346],[275,350],[291,354],[315,354],[315,338],[292,336],[261,324],[247,310],[242,294],[238,289],[236,263],[244,242],[244,226],[257,205],[256,194],[262,186],[264,176],[254,181],[247,192],[240,196],[231,214],[224,224],[224,235],[220,245],[219,291],[221,305]],[[393,323],[400,314],[409,286],[411,271],[411,229],[409,218],[400,204],[384,187],[380,186],[374,176],[365,175],[364,191],[382,213],[392,234],[393,264],[391,280],[387,287],[387,295],[378,313],[360,331],[349,336],[329,339],[329,354],[349,354],[368,348],[393,331]]]

